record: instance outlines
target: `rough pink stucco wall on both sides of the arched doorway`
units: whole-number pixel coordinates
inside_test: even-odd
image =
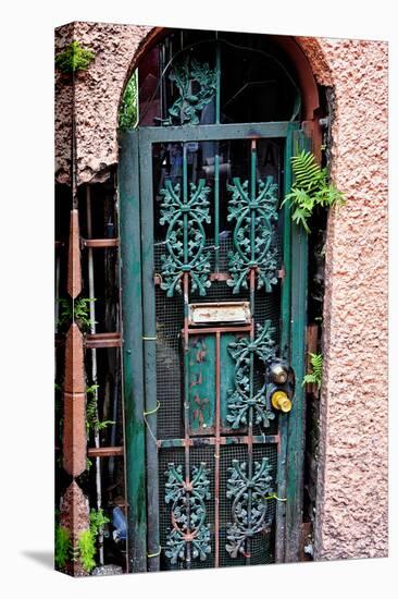
[[[75,38],[96,52],[76,77],[80,183],[100,181],[117,161],[117,106],[149,32],[74,24]],[[63,47],[62,29],[57,39]],[[381,557],[387,553],[387,45],[298,44],[318,83],[334,87],[332,174],[347,198],[331,213],[326,244],[315,559]],[[67,93],[60,94],[63,142]],[[57,178],[65,182],[67,149],[59,146]]]

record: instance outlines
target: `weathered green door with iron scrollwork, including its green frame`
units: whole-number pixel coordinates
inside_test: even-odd
[[[215,119],[219,121],[219,119]],[[297,122],[121,137],[132,571],[298,558],[307,240]]]

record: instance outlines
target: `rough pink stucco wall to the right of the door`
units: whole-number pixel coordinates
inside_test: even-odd
[[[387,44],[318,40],[335,91],[316,559],[387,554]],[[328,65],[324,72],[322,61]],[[332,81],[329,76],[332,75]]]

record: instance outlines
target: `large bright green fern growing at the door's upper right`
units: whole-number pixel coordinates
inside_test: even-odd
[[[345,197],[337,187],[329,182],[327,169],[322,169],[311,151],[302,150],[291,157],[295,183],[291,192],[286,195],[282,205],[289,203],[293,209],[291,219],[297,224],[302,224],[308,233],[308,219],[314,208],[329,208],[345,204]]]

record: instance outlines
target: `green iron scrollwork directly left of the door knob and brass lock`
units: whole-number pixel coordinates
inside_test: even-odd
[[[249,338],[240,338],[228,345],[228,352],[236,362],[235,390],[228,396],[228,414],[226,419],[236,429],[248,425],[250,407],[253,408],[256,424],[262,424],[264,428],[270,426],[270,420],[275,418],[266,395],[266,383],[261,389],[253,390],[250,382],[251,363],[257,355],[264,364],[271,364],[276,356],[274,341],[275,328],[271,320],[265,320],[264,326],[258,326],[258,334],[253,341]]]

